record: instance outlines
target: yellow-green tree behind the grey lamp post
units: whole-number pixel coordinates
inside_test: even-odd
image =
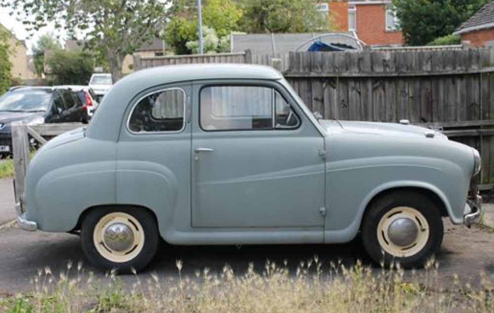
[[[169,46],[174,48],[176,54],[191,54],[193,51],[187,46],[187,42],[199,40],[196,3],[195,0],[177,0],[171,8],[174,16],[165,26],[165,40]],[[242,9],[233,0],[204,0],[203,3],[203,27],[208,28],[209,43],[212,42],[212,37],[216,36],[223,43],[225,36],[237,30],[238,21],[242,17]],[[212,36],[212,31],[215,33],[214,36]],[[203,31],[203,39],[205,37],[206,32]],[[190,43],[189,46],[195,46],[195,44]],[[209,49],[209,52],[221,50],[221,45],[216,45],[216,48]]]

